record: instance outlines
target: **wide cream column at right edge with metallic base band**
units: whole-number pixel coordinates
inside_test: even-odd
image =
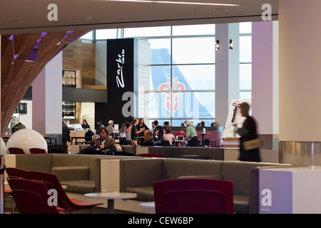
[[[321,1],[279,1],[280,160],[321,165]]]

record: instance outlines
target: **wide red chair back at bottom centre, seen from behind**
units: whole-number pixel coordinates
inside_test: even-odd
[[[233,182],[175,179],[153,183],[156,214],[233,214]]]

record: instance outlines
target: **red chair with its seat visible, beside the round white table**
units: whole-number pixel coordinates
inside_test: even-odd
[[[29,171],[29,175],[31,179],[44,182],[49,189],[55,189],[58,192],[58,207],[64,209],[65,212],[89,209],[89,211],[92,213],[91,209],[94,206],[103,204],[84,202],[78,199],[69,199],[65,190],[63,190],[63,187],[61,186],[58,177],[52,173],[41,171]]]

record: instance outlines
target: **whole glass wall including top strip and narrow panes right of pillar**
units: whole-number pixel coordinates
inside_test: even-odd
[[[240,23],[240,98],[251,98],[251,23]],[[138,38],[150,43],[150,102],[153,120],[180,126],[186,119],[215,122],[215,24],[93,31],[96,40]]]

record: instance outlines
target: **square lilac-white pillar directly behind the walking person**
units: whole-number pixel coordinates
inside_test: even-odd
[[[278,150],[278,23],[252,23],[252,115],[265,149]]]

